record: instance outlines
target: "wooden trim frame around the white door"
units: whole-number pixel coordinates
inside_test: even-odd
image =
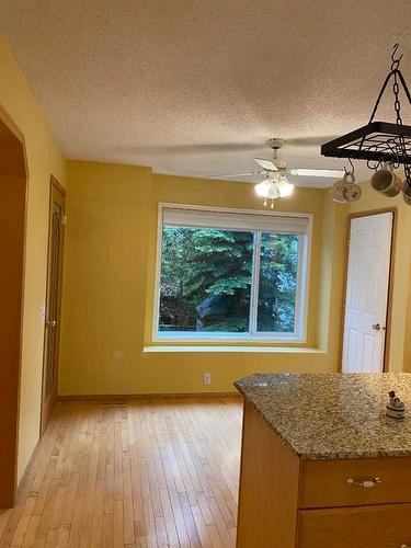
[[[361,217],[372,217],[374,215],[381,215],[384,213],[392,213],[392,230],[391,230],[391,249],[389,258],[389,273],[388,273],[388,292],[387,292],[387,317],[386,317],[386,333],[384,341],[384,358],[383,358],[383,373],[388,372],[390,344],[391,344],[391,320],[392,320],[392,290],[393,290],[393,269],[396,258],[396,242],[397,242],[397,207],[381,207],[380,209],[368,209],[366,212],[352,213],[347,216],[347,224],[345,229],[345,246],[344,246],[344,277],[343,277],[343,300],[342,300],[342,329],[340,338],[340,358],[339,370],[342,372],[343,346],[345,335],[345,302],[346,302],[346,286],[349,274],[349,259],[350,259],[350,238],[351,238],[351,221]]]

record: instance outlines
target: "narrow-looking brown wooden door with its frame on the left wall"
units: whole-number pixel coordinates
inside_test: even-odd
[[[65,192],[58,182],[52,178],[43,362],[42,433],[47,427],[57,400],[65,215]]]

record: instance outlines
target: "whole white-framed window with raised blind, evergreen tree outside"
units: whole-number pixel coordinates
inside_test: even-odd
[[[155,338],[302,340],[309,220],[162,206]]]

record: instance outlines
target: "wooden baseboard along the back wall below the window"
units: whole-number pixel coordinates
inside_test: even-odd
[[[238,392],[179,392],[179,393],[81,393],[58,396],[58,401],[130,401],[152,399],[232,398],[241,399]]]

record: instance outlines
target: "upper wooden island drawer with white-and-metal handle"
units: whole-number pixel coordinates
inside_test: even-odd
[[[379,479],[372,488],[358,486]],[[349,483],[349,480],[354,482]],[[307,460],[299,506],[364,506],[411,502],[411,458]]]

